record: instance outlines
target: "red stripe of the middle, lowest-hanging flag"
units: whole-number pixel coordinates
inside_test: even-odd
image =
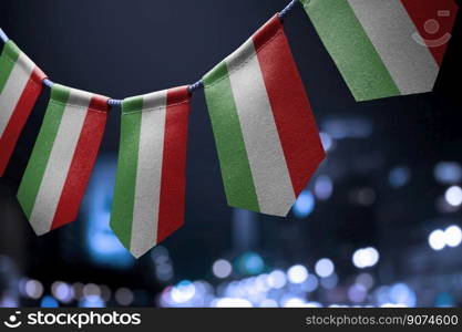
[[[184,225],[188,115],[189,92],[187,86],[168,90],[157,243]]]

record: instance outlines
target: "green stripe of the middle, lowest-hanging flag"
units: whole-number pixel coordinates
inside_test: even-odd
[[[134,97],[123,102],[121,123],[121,146],[117,174],[112,205],[111,228],[121,242],[130,250],[135,205],[136,174],[140,152],[143,98]],[[130,113],[130,114],[129,114]],[[155,216],[153,216],[154,218]]]

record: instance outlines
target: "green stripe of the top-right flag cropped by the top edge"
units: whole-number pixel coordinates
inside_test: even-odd
[[[357,101],[400,95],[347,0],[301,0]]]

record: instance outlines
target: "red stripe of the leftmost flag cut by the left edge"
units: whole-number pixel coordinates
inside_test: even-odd
[[[33,70],[18,104],[14,107],[10,121],[4,128],[3,135],[0,137],[0,177],[3,176],[22,128],[35,105],[37,98],[42,92],[42,81],[45,77],[45,74],[40,69],[35,68]]]

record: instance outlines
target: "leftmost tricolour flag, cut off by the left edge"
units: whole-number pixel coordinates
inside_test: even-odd
[[[10,40],[0,56],[0,176],[42,92],[47,75]]]

